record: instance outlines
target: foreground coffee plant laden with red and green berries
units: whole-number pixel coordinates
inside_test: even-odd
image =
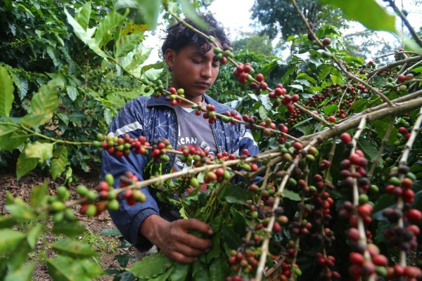
[[[369,28],[395,32],[395,16],[375,1],[356,1],[356,9],[343,1],[324,2]],[[231,68],[234,87],[239,85],[243,95],[231,103],[237,111],[216,112],[212,105],[195,103],[192,108],[210,124],[217,118],[245,124],[262,152],[214,157],[145,136],[96,133],[89,141],[49,136],[40,128],[58,115],[58,96],[69,81],[52,75],[20,116],[12,111],[17,83],[10,73],[15,70],[1,66],[0,148],[23,148],[18,178],[46,162],[53,177],[61,174],[69,146],[107,150],[115,157],[136,153],[151,161],[143,181],[127,171],[115,186],[108,174],[95,190],[78,185],[77,198],[70,198],[65,186],[48,192],[47,183],[33,188],[29,203],[6,195],[9,214],[0,216],[0,278],[30,280],[37,261],[27,261],[27,254],[39,243],[56,253],[42,261],[54,280],[103,275],[91,259],[95,251],[75,239],[85,228],[72,207],[98,216],[118,209],[122,200],[142,204],[142,189],[151,188],[162,204],[179,209],[184,218],[210,224],[212,248],[189,265],[160,252],[130,268],[122,261],[120,270],[108,270],[115,280],[420,280],[422,41],[394,1],[385,2],[411,35],[403,48],[385,54],[391,58],[387,65],[377,65],[379,58],[364,62],[348,55],[340,32],[328,25],[314,30],[295,0],[292,5],[307,34],[290,38],[298,53],[265,65],[236,61],[231,48],[217,46],[206,31],[181,20],[183,11],[200,25],[188,1],[180,1],[181,10],[173,1],[117,1],[116,10],[94,27],[89,25],[90,2],[74,15],[65,7],[73,32],[102,65],[136,81],[141,93],[166,96],[172,105],[191,102],[184,89],[169,88],[158,79],[162,64],[141,66],[148,51],[127,18],[153,28],[164,8],[168,17],[207,37],[216,46],[215,59]],[[373,11],[371,17],[362,15],[362,9]],[[193,168],[163,173],[171,154]],[[173,200],[176,194],[183,196]],[[49,243],[46,233],[59,238]]]

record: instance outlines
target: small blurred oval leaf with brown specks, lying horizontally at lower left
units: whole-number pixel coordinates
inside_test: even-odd
[[[72,240],[70,238],[58,240],[56,243],[51,245],[51,248],[59,254],[71,256],[73,258],[84,258],[96,255],[96,252],[92,249],[90,244]]]

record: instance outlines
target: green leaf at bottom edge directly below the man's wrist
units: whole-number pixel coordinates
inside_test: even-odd
[[[149,280],[150,278],[165,273],[167,268],[172,267],[173,264],[174,261],[168,259],[162,253],[156,253],[144,257],[141,261],[134,263],[134,265],[127,270],[139,279]]]

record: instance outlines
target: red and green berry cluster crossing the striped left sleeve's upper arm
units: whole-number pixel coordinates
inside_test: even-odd
[[[125,133],[123,138],[110,135],[103,136],[102,133],[98,133],[96,139],[96,141],[92,142],[92,145],[98,148],[102,147],[108,151],[108,154],[116,155],[117,157],[129,156],[131,149],[134,149],[136,154],[146,155],[148,148],[151,146],[144,136],[131,138],[129,133]]]

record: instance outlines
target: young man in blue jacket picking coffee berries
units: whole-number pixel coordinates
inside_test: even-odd
[[[210,27],[210,30],[203,32],[215,37],[220,46],[230,46],[219,22],[210,14],[204,15],[203,19]],[[205,94],[219,73],[219,61],[212,59],[213,50],[214,46],[207,39],[181,23],[167,30],[167,38],[162,45],[162,54],[172,71],[171,86],[184,89],[185,97],[193,103],[215,105],[216,112],[224,113],[232,109]],[[225,124],[220,119],[210,124],[207,119],[196,116],[190,104],[182,102],[172,106],[165,97],[141,96],[124,105],[113,120],[109,134],[122,136],[124,133],[129,133],[132,138],[145,136],[149,143],[167,138],[175,150],[183,145],[191,145],[199,150],[208,150],[210,154],[226,151],[238,155],[245,148],[250,155],[258,152],[250,131],[244,125]],[[118,187],[119,177],[126,171],[132,171],[142,181],[143,169],[149,159],[134,153],[128,157],[115,157],[104,151],[102,177],[113,174],[115,186]],[[167,171],[187,168],[177,161],[177,157],[170,155]],[[196,230],[210,237],[210,226],[194,218],[181,219],[177,210],[160,206],[153,190],[143,188],[142,191],[147,197],[146,202],[129,206],[126,200],[122,200],[118,211],[110,211],[123,237],[136,249],[148,251],[154,244],[170,259],[191,263],[210,248],[209,238],[190,234]]]

